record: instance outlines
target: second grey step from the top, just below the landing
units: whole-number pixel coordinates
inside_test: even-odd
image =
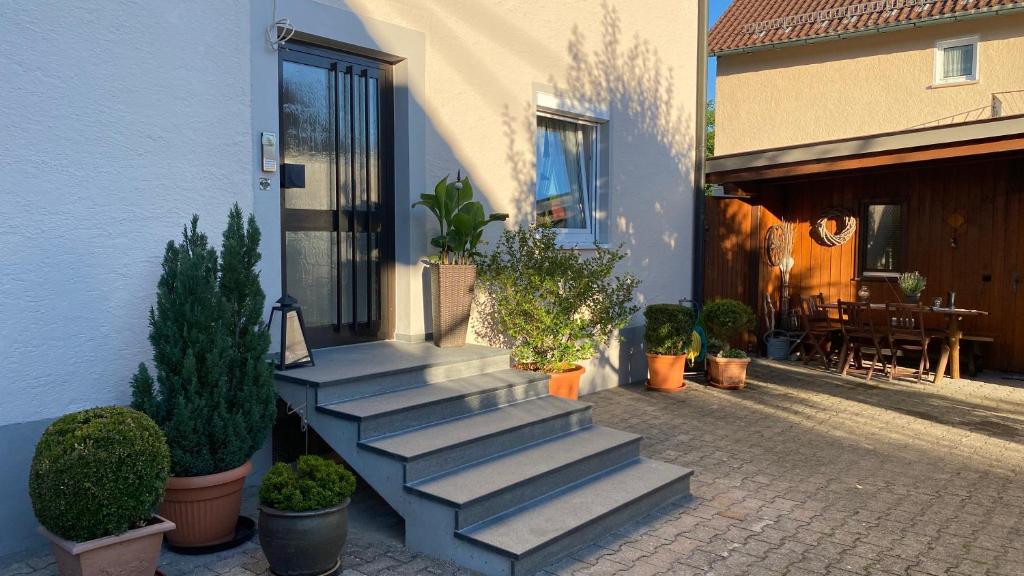
[[[359,423],[359,440],[393,434],[548,394],[548,376],[498,370],[319,406]]]

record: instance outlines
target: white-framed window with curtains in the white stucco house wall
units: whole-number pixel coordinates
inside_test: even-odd
[[[555,228],[560,244],[587,247],[599,241],[607,120],[581,110],[538,94],[534,202],[537,223]]]

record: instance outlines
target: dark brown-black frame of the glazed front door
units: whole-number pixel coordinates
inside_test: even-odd
[[[380,308],[380,323],[376,329],[371,329],[369,331],[360,329],[357,322],[357,317],[353,311],[352,325],[341,324],[341,314],[342,314],[342,303],[343,294],[341,290],[341,258],[339,257],[341,251],[342,234],[344,232],[353,230],[360,222],[355,221],[354,212],[352,209],[349,211],[349,215],[345,217],[341,210],[340,195],[341,195],[341,178],[336,178],[335,183],[335,196],[338,198],[337,209],[334,210],[333,217],[326,218],[323,211],[313,210],[297,210],[286,208],[285,206],[285,189],[281,188],[280,191],[280,202],[281,202],[281,285],[282,293],[287,293],[288,289],[288,253],[287,253],[287,238],[286,231],[288,230],[303,230],[305,225],[310,227],[308,230],[334,230],[338,233],[338,242],[335,246],[335,257],[339,260],[338,277],[335,278],[335,283],[337,286],[338,302],[337,302],[337,323],[333,327],[327,327],[326,329],[316,330],[315,328],[310,328],[307,330],[309,332],[307,336],[313,343],[313,347],[329,347],[333,345],[342,345],[349,343],[357,343],[373,340],[384,340],[391,339],[394,337],[394,297],[395,297],[395,241],[396,241],[396,231],[395,231],[395,190],[394,190],[394,84],[393,84],[393,71],[392,66],[389,63],[382,60],[377,60],[373,58],[368,58],[365,56],[343,52],[340,50],[323,48],[319,46],[314,46],[311,44],[306,44],[302,42],[289,42],[287,46],[283,46],[279,52],[278,58],[278,119],[279,119],[279,134],[281,134],[280,141],[282,149],[284,149],[285,141],[285,115],[282,113],[281,107],[284,104],[284,63],[293,61],[297,64],[315,66],[318,68],[325,68],[331,70],[332,72],[337,72],[343,67],[354,69],[359,68],[365,72],[373,71],[373,76],[377,78],[377,86],[380,94],[379,106],[378,106],[378,187],[382,211],[382,219],[376,222],[379,225],[380,234],[378,235],[379,249],[380,249],[380,260],[379,260],[379,271],[380,271],[380,284],[378,286],[378,306]],[[337,92],[337,87],[335,87]],[[337,112],[337,106],[335,107],[335,112]],[[337,118],[335,119],[335,127],[337,129]],[[341,138],[335,138],[335,158],[341,158]],[[282,155],[284,158],[284,155]],[[354,160],[352,161],[354,163]],[[337,162],[338,170],[340,171],[342,163]],[[350,168],[352,168],[350,166]],[[283,170],[282,170],[283,172]],[[281,172],[279,172],[281,173]],[[368,211],[369,212],[369,211]],[[369,216],[368,216],[369,219]],[[333,221],[332,221],[333,220]],[[288,228],[289,222],[297,224],[291,229]],[[368,223],[368,228],[369,228]],[[374,227],[377,228],[377,227]],[[354,239],[353,239],[353,249],[354,249]],[[353,260],[354,266],[354,260]],[[368,278],[368,282],[370,282]],[[355,289],[355,278],[353,276],[353,291]],[[369,289],[369,288],[368,288]],[[351,295],[354,298],[354,294]],[[369,292],[368,292],[369,301]],[[302,302],[299,302],[300,305]],[[353,304],[355,305],[355,304]],[[354,326],[354,329],[353,327]]]

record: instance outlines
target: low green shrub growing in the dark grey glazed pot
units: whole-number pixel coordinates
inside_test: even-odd
[[[278,462],[263,477],[259,500],[264,506],[301,512],[337,506],[355,492],[355,476],[321,456],[300,456],[293,464]]]

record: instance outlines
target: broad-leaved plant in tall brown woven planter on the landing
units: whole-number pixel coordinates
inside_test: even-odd
[[[483,205],[473,200],[473,184],[460,173],[456,181],[441,178],[432,194],[421,194],[413,204],[425,206],[437,218],[440,234],[430,240],[439,250],[430,262],[430,318],[433,342],[439,347],[466,344],[466,331],[473,305],[476,266],[473,258],[483,228],[503,221],[508,214],[485,216]]]

